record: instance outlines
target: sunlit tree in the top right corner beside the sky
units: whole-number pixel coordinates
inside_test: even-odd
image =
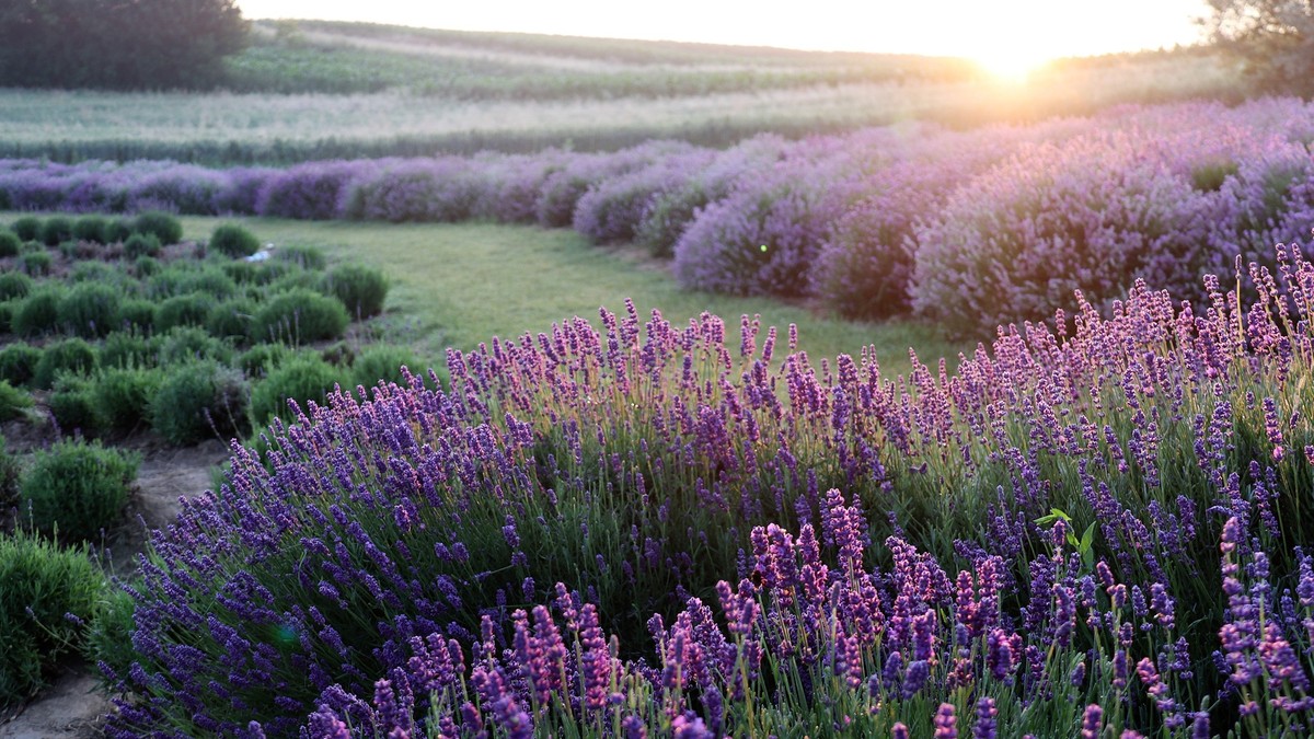
[[[1314,0],[1209,0],[1214,43],[1265,92],[1314,93]]]

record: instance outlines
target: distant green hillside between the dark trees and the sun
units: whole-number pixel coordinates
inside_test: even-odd
[[[334,21],[259,21],[229,59],[240,92],[380,92],[566,100],[817,84],[963,82],[964,59],[478,33]]]

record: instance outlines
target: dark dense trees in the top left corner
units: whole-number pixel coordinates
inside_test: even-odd
[[[0,85],[209,87],[247,30],[235,0],[4,0]]]

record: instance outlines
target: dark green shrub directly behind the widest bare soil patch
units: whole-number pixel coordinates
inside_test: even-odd
[[[173,444],[237,435],[251,402],[242,372],[213,360],[171,370],[150,401],[151,429]]]

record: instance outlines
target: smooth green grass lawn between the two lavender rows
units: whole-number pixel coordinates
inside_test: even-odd
[[[762,323],[799,326],[800,348],[813,359],[857,355],[875,346],[887,372],[907,372],[908,347],[924,360],[957,358],[974,342],[945,341],[934,326],[915,322],[857,323],[820,317],[769,297],[731,297],[681,289],[661,264],[590,246],[570,230],[491,224],[356,224],[273,218],[240,220],[261,241],[313,245],[330,258],[373,264],[393,279],[388,298],[396,338],[430,356],[443,347],[469,350],[497,335],[548,330],[555,321],[595,320],[598,308],[624,310],[627,297],[640,314],[653,308],[678,323],[703,310],[727,320],[738,335],[738,317],[761,314]],[[188,238],[208,238],[219,218],[183,218]]]

